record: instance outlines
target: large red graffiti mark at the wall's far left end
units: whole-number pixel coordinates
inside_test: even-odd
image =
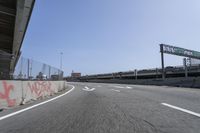
[[[16,99],[10,98],[11,91],[14,90],[12,84],[8,84],[6,81],[2,81],[3,90],[0,90],[0,100],[6,100],[9,107],[12,107],[16,104]]]

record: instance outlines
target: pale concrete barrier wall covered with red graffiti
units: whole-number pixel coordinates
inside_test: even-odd
[[[0,109],[53,95],[66,86],[65,81],[0,80]]]

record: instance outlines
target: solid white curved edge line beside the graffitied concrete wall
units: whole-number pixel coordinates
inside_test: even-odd
[[[19,110],[19,111],[16,111],[16,112],[10,113],[10,114],[8,114],[8,115],[2,116],[2,117],[0,117],[0,121],[1,121],[1,120],[4,120],[4,119],[6,119],[6,118],[12,117],[12,116],[14,116],[14,115],[20,114],[20,113],[22,113],[22,112],[28,111],[28,110],[30,110],[30,109],[36,108],[36,107],[38,107],[38,106],[40,106],[40,105],[43,105],[43,104],[46,104],[46,103],[48,103],[48,102],[54,101],[54,100],[56,100],[56,99],[58,99],[58,98],[60,98],[60,97],[63,97],[63,96],[67,95],[68,93],[70,93],[70,92],[72,92],[72,91],[74,90],[75,87],[74,87],[73,85],[70,85],[70,86],[72,86],[72,89],[69,90],[69,91],[67,91],[67,92],[65,92],[64,94],[61,94],[61,95],[59,95],[59,96],[57,96],[57,97],[54,97],[54,98],[52,98],[52,99],[49,99],[49,100],[47,100],[47,101],[44,101],[44,102],[35,104],[35,105],[33,105],[33,106],[27,107],[27,108],[25,108],[25,109],[21,109],[21,110]]]

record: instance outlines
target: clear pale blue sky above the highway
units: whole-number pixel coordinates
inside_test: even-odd
[[[36,0],[22,55],[59,68],[63,52],[65,75],[107,73],[160,67],[160,43],[200,51],[199,0]]]

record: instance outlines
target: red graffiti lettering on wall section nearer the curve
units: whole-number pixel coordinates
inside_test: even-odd
[[[46,94],[53,94],[54,91],[51,89],[51,82],[48,81],[36,81],[28,82],[28,88],[32,94],[37,97],[45,96]]]

